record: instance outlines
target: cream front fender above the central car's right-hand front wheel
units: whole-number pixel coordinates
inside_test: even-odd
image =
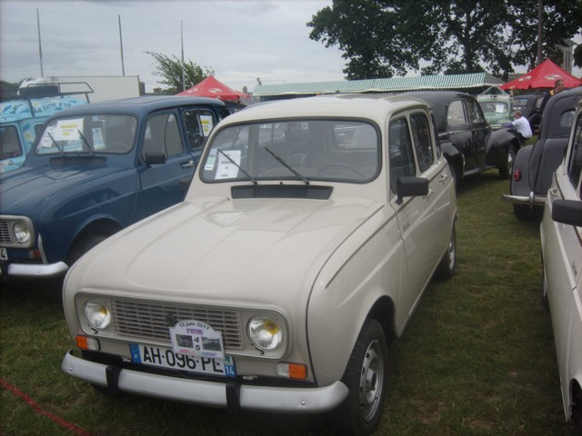
[[[398,307],[401,289],[406,289],[404,245],[394,210],[386,206],[338,247],[314,283],[306,321],[318,384],[341,380],[366,318],[379,301]],[[394,336],[396,313],[380,318],[392,330],[386,336]]]

